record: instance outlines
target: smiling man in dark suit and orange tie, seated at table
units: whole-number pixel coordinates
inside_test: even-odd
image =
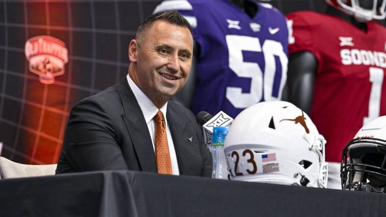
[[[129,45],[127,77],[71,110],[56,174],[136,170],[208,176],[212,157],[193,113],[169,101],[192,63],[189,23],[175,11],[150,16]]]

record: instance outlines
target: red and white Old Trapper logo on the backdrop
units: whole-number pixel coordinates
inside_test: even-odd
[[[43,84],[53,84],[55,76],[64,74],[68,62],[66,44],[50,36],[36,36],[25,43],[25,57],[29,70],[39,75]]]

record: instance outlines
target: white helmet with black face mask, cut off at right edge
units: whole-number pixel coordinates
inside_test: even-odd
[[[364,125],[343,149],[343,190],[386,193],[386,116]]]

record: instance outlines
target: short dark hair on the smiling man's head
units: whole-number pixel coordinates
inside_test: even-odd
[[[156,14],[151,15],[150,17],[146,18],[146,20],[138,27],[137,34],[135,36],[135,39],[138,41],[143,36],[143,34],[153,25],[156,21],[164,21],[169,24],[186,27],[189,29],[191,34],[192,27],[189,24],[189,22],[177,11],[167,11],[167,12],[159,12]]]

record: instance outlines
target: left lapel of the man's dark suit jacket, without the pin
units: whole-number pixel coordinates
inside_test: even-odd
[[[154,149],[145,117],[126,77],[118,84],[118,92],[124,109],[124,114],[121,116],[138,156],[140,167],[142,171],[157,172]]]

